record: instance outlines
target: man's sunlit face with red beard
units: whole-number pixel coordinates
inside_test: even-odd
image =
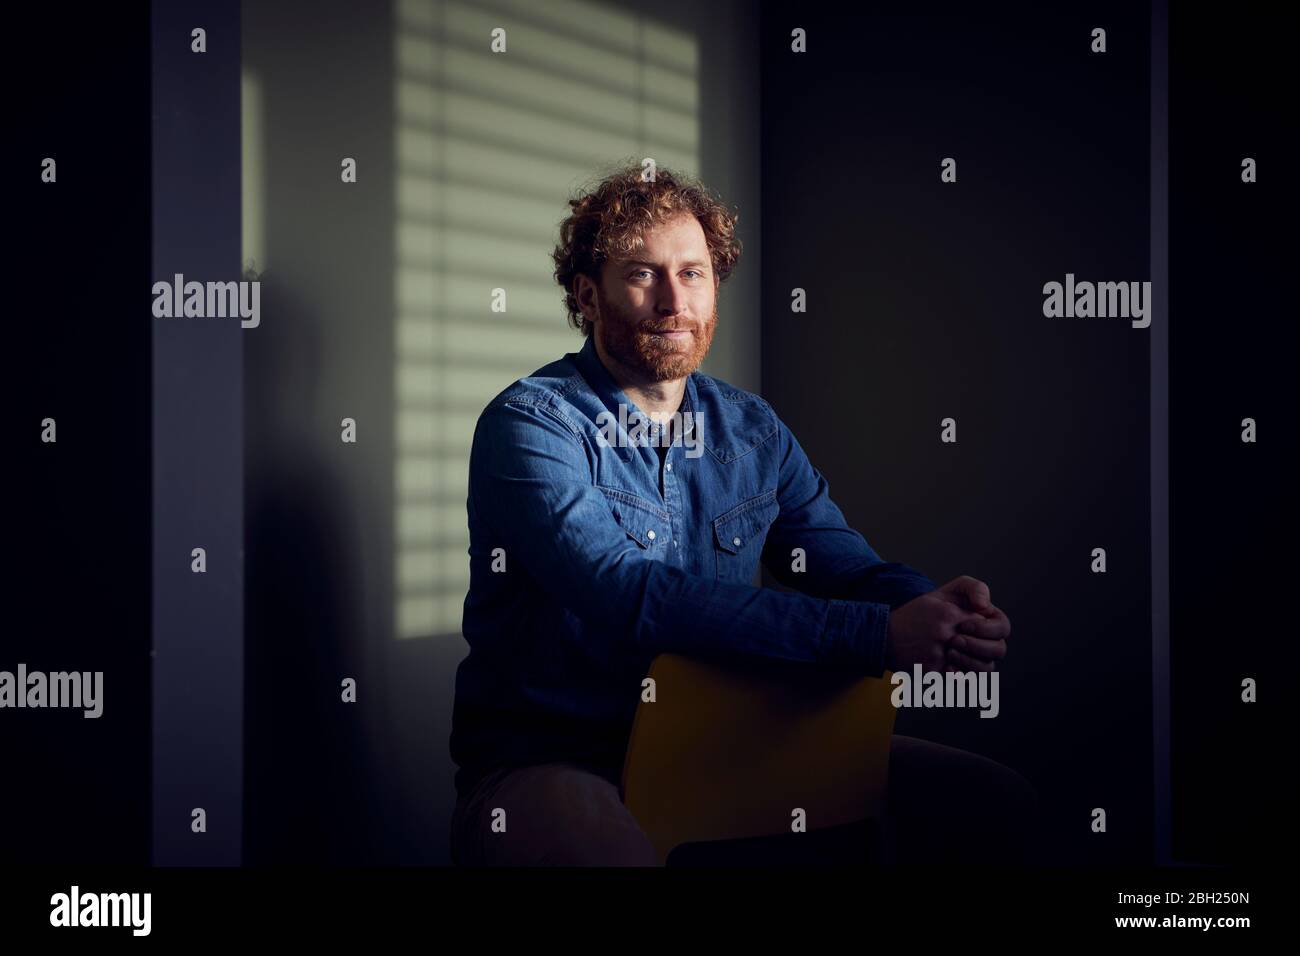
[[[592,334],[640,380],[684,378],[714,341],[716,291],[699,221],[684,215],[660,222],[630,259],[604,263]]]

